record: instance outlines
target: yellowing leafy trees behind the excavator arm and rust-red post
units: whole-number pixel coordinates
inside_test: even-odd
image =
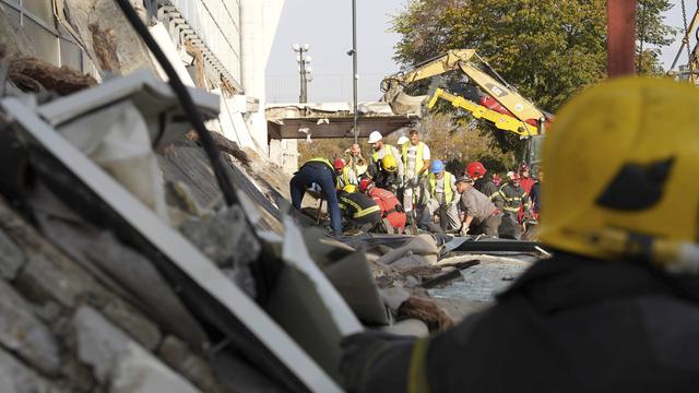
[[[655,72],[656,50],[672,43],[673,29],[661,15],[672,5],[641,1],[641,69]],[[404,68],[449,49],[474,48],[520,94],[553,112],[606,75],[605,0],[413,0],[394,16],[392,31],[401,35],[394,59]],[[449,79],[447,90],[462,90],[454,85],[459,81]],[[481,127],[506,151],[519,142]]]

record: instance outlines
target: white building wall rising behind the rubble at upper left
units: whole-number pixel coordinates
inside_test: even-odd
[[[191,58],[186,59],[183,48],[192,33],[201,40],[198,45],[213,55],[206,58],[204,68],[213,82],[208,88],[222,95],[222,117],[225,117],[221,120],[222,133],[280,166],[295,163],[295,141],[280,143],[277,153],[271,155],[264,116],[265,69],[285,0],[131,1],[142,4],[141,10],[151,19],[163,22],[186,66]],[[56,22],[51,0],[0,0],[0,5],[12,23],[25,31],[32,41],[29,52],[54,64],[66,64],[98,76],[90,57]],[[179,15],[163,12],[165,8]],[[222,75],[233,80],[237,96],[222,88]],[[251,102],[258,104],[250,105]]]

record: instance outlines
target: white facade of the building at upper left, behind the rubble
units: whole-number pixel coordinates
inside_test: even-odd
[[[131,0],[137,11],[151,23],[154,36],[159,33],[158,43],[170,60],[179,59],[180,63],[175,66],[181,70],[185,82],[221,95],[221,118],[213,128],[262,156],[269,157],[273,153],[272,160],[280,165],[283,163],[277,148],[270,150],[268,140],[264,93],[266,63],[284,2]],[[92,7],[104,10],[107,15],[106,10],[116,8],[114,0],[0,0],[3,13],[29,38],[34,55],[99,79],[99,67],[93,63],[94,56],[87,56],[90,50],[85,49],[92,41],[85,44],[76,38],[80,28],[75,27],[75,33],[70,27],[75,25],[74,21],[61,19],[58,3],[73,11],[73,20],[83,15],[75,10]],[[97,20],[98,16],[83,19]],[[169,43],[163,41],[163,32],[167,32]]]

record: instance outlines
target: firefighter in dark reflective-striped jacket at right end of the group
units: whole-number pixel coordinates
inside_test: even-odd
[[[501,238],[519,239],[522,236],[520,227],[520,209],[524,206],[524,211],[530,211],[529,196],[526,191],[520,186],[520,176],[514,172],[508,172],[509,181],[500,187],[495,195],[496,205],[501,206],[502,224],[498,230]]]

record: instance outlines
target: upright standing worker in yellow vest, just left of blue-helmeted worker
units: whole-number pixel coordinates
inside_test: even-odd
[[[408,142],[402,146],[401,158],[405,167],[403,206],[408,217],[416,217],[416,204],[420,201],[423,181],[429,168],[429,147],[420,142],[419,133],[413,129],[407,133]]]

